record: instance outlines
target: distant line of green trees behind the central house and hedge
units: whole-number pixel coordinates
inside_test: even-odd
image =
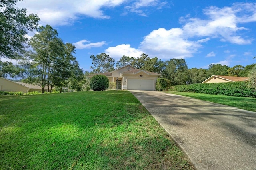
[[[101,53],[96,55],[96,57],[91,55],[91,59],[94,64],[94,66],[90,67],[93,69],[91,73],[104,73],[114,70],[115,60],[106,53]],[[222,64],[210,64],[208,69],[188,69],[185,59],[173,58],[161,61],[161,59],[158,59],[157,57],[150,58],[145,53],[138,58],[124,55],[120,60],[116,61],[117,68],[121,68],[128,64],[137,69],[160,73],[162,74],[162,78],[170,80],[171,85],[202,83],[212,75],[248,77],[250,76],[249,73],[253,70],[253,67],[254,69],[256,67],[256,64],[247,65],[245,67],[242,65],[228,67],[227,65]]]

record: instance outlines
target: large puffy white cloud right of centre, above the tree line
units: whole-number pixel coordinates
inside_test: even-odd
[[[183,34],[184,31],[180,28],[153,30],[144,37],[139,49],[159,59],[192,57],[192,54],[201,47],[200,41],[189,41],[183,38]],[[201,42],[205,41],[202,40]]]

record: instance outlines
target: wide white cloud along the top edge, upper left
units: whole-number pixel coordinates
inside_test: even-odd
[[[80,15],[108,19],[102,8],[119,6],[125,0],[24,0],[16,6],[26,8],[28,13],[38,14],[41,25],[70,25]]]

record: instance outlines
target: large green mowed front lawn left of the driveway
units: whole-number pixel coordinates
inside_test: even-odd
[[[129,91],[0,97],[0,169],[194,169]]]

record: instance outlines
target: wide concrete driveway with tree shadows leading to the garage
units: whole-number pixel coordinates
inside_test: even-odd
[[[256,112],[158,91],[130,91],[198,170],[256,170]]]

